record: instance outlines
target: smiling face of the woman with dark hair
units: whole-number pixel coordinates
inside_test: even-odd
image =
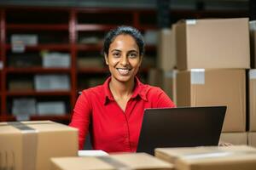
[[[119,82],[133,81],[142,63],[136,41],[130,35],[121,34],[114,38],[105,54],[106,64],[112,78]]]

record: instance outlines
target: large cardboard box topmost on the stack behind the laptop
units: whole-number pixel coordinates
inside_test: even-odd
[[[250,68],[248,19],[177,22],[177,69]]]

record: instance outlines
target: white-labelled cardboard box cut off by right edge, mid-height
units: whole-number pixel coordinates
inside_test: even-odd
[[[249,131],[256,131],[256,69],[249,71]]]

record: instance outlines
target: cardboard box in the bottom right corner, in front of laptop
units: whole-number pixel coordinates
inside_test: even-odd
[[[248,146],[158,148],[155,156],[176,170],[253,170],[256,149]]]

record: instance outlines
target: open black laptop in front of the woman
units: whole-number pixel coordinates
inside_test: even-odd
[[[146,109],[137,152],[218,145],[226,106]]]

